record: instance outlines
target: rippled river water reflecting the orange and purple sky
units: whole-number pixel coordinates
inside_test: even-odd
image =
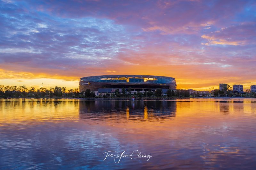
[[[255,169],[255,125],[255,99],[2,99],[0,169]]]

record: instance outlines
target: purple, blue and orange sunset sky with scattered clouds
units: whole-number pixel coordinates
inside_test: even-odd
[[[178,89],[256,85],[255,0],[2,0],[0,30],[4,86],[118,74],[169,76]]]

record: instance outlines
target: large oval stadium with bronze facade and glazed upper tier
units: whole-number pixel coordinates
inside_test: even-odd
[[[125,88],[131,91],[155,91],[156,89],[173,89],[177,87],[175,78],[150,75],[105,75],[80,78],[79,91],[90,89],[97,93],[113,92]]]

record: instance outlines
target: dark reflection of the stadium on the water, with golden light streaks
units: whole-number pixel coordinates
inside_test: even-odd
[[[101,119],[108,121],[168,121],[175,118],[176,101],[152,100],[91,100],[79,102],[81,119]]]

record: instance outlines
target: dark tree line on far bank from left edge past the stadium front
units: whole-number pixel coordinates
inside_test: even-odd
[[[27,88],[25,85],[22,86],[4,86],[0,85],[0,97],[8,98],[8,97],[32,97],[32,98],[44,98],[44,97],[72,97],[72,98],[120,98],[120,97],[163,97],[164,93],[162,89],[156,89],[155,92],[145,91],[145,92],[134,92],[132,94],[131,88],[127,90],[122,88],[121,91],[116,89],[114,93],[106,93],[95,95],[95,92],[90,89],[86,89],[83,92],[79,92],[78,88],[67,90],[66,87],[50,87],[47,88],[39,88],[36,90],[35,87]],[[168,89],[166,92],[167,97],[189,97],[188,90],[171,90]]]

